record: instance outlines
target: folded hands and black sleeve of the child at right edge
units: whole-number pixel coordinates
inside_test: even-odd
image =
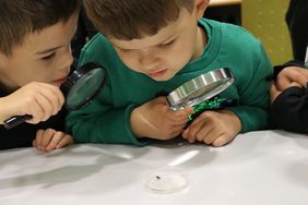
[[[276,79],[271,86],[273,125],[308,133],[308,70],[299,62],[289,62],[276,69]]]

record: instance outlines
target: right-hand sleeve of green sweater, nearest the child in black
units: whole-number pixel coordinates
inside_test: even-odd
[[[270,76],[273,73],[271,62],[259,45],[259,65],[251,70],[251,79],[246,87],[239,91],[239,105],[229,110],[234,111],[241,121],[241,132],[266,129],[270,109]]]

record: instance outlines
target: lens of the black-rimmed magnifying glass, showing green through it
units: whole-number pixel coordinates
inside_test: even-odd
[[[66,106],[69,110],[75,110],[86,106],[97,94],[105,81],[103,69],[93,69],[81,76],[70,88],[67,96]]]

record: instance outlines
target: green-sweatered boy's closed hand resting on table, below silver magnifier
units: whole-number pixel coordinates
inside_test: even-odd
[[[182,137],[190,143],[204,142],[223,146],[230,142],[241,130],[238,117],[228,110],[204,111],[187,128]]]

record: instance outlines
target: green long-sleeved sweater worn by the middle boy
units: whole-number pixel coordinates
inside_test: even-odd
[[[270,107],[266,80],[272,65],[259,40],[241,27],[210,20],[199,22],[209,37],[202,56],[189,62],[171,80],[156,82],[128,69],[103,35],[95,36],[83,49],[80,65],[97,62],[108,73],[106,87],[87,107],[71,112],[67,129],[79,143],[122,143],[144,145],[131,132],[131,111],[171,92],[182,83],[211,70],[229,68],[236,82],[221,96],[238,100],[229,108],[241,121],[241,132],[265,129]],[[185,48],[183,48],[185,49]]]

